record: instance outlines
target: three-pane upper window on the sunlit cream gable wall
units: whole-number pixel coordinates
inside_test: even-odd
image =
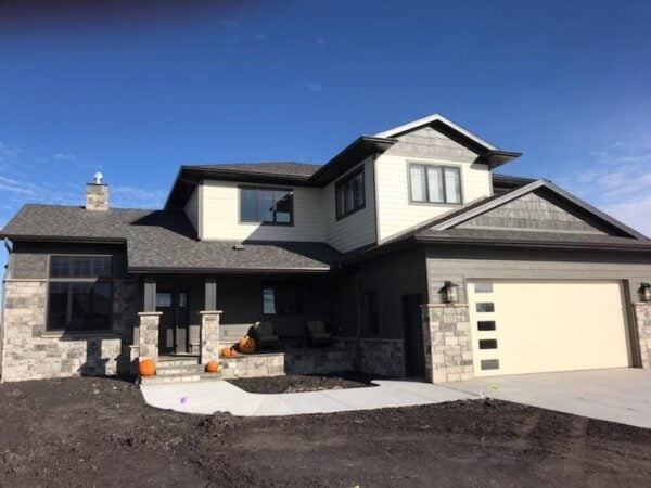
[[[461,203],[461,172],[451,166],[409,165],[411,202]]]

